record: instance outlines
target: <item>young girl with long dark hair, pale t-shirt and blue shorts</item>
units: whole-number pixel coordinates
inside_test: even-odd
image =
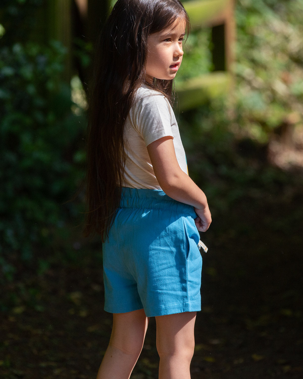
[[[103,241],[112,334],[98,379],[127,379],[156,318],[160,379],[189,379],[201,308],[198,230],[211,214],[187,174],[170,105],[189,26],[179,0],[117,0],[89,106],[86,235]]]

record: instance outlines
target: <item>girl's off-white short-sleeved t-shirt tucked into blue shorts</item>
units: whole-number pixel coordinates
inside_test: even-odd
[[[172,136],[180,168],[187,174],[184,148],[172,107],[165,96],[143,85],[125,122],[124,187],[161,189],[153,171],[147,146],[159,138]]]

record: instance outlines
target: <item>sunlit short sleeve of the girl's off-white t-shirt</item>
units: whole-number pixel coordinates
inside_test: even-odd
[[[142,97],[133,111],[133,125],[144,139],[145,146],[162,137],[173,137],[170,107],[163,95]]]

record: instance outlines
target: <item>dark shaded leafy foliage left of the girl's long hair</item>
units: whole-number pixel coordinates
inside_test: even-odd
[[[21,14],[17,3],[26,2],[9,2],[2,13]],[[9,28],[1,41],[0,265],[12,279],[16,265],[41,271],[55,233],[78,213],[68,200],[83,175],[85,116],[62,80],[66,49],[58,41],[16,42]]]

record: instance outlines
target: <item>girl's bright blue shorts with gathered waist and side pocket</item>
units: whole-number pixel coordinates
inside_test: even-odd
[[[123,188],[103,244],[104,309],[147,316],[201,310],[194,208],[161,190]]]

